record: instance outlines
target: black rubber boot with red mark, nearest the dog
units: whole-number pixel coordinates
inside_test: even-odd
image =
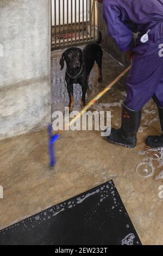
[[[141,111],[133,111],[122,105],[122,125],[120,129],[111,129],[110,136],[106,137],[110,142],[122,145],[126,148],[135,148],[136,133],[139,130]]]

